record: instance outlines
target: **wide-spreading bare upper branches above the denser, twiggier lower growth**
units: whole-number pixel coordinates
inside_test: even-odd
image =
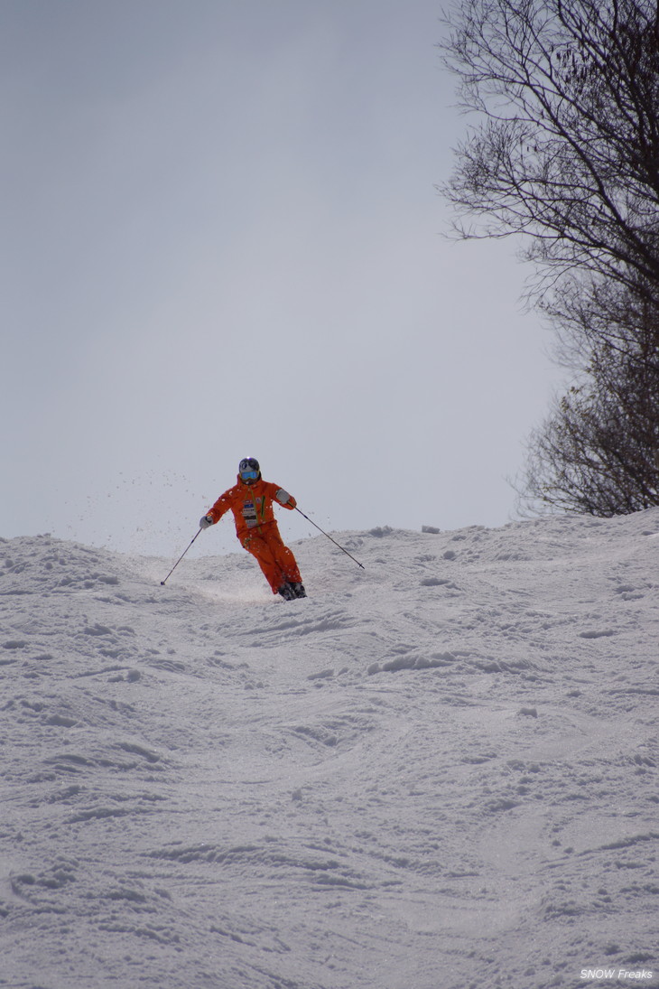
[[[659,280],[659,17],[650,0],[462,0],[440,45],[481,123],[442,191],[461,236],[530,235],[541,288]]]

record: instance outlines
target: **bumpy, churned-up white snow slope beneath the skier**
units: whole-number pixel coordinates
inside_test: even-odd
[[[0,541],[0,986],[659,985],[659,510],[337,538]]]

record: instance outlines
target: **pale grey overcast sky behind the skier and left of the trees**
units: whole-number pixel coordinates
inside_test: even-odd
[[[441,13],[0,0],[1,536],[175,557],[243,456],[329,530],[512,517],[559,375],[445,238]]]

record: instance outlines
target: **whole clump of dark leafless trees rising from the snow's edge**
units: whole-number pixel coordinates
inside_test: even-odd
[[[577,374],[531,437],[527,502],[657,504],[657,4],[462,0],[446,24],[461,105],[479,115],[442,189],[455,230],[522,236],[532,297]]]

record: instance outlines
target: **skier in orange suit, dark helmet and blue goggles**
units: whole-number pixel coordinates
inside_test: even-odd
[[[220,494],[212,508],[200,519],[200,528],[218,522],[231,509],[241,546],[256,557],[274,594],[290,601],[306,597],[306,591],[292,552],[284,545],[273,510],[273,500],[294,508],[295,499],[279,485],[264,481],[254,457],[245,457],[238,467],[238,483]]]

